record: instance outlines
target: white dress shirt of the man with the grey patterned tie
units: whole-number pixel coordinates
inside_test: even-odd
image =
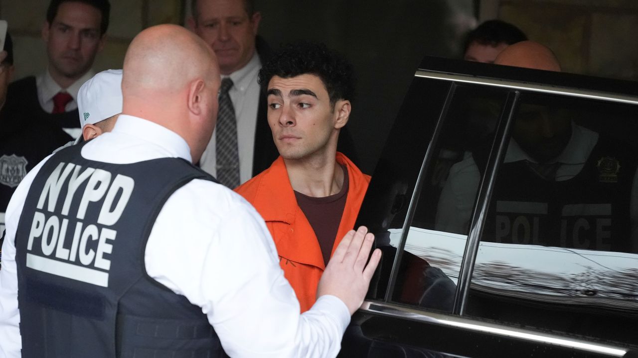
[[[233,87],[228,90],[228,95],[235,108],[235,120],[237,120],[240,183],[253,177],[253,151],[259,106],[257,75],[260,68],[262,68],[262,62],[259,61],[259,56],[255,52],[246,66],[231,73],[230,76],[222,76],[222,79],[230,77],[233,80]],[[212,176],[217,175],[215,145],[215,134],[212,134],[211,141],[200,159],[200,168]]]

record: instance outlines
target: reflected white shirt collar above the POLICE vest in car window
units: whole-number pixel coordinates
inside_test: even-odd
[[[567,146],[563,149],[556,159],[550,161],[551,163],[563,163],[563,164],[582,164],[587,161],[590,156],[591,150],[598,142],[598,133],[581,127],[580,125],[572,122],[572,136],[567,142]],[[505,153],[505,162],[517,162],[517,161],[529,161],[538,163],[535,159],[532,159],[524,150],[516,143],[516,140],[512,138],[510,144],[507,147]]]

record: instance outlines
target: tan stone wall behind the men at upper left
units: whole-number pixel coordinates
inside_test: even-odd
[[[110,24],[105,47],[93,69],[122,68],[131,39],[155,24],[181,24],[184,2],[180,0],[111,0]],[[40,32],[46,20],[47,0],[0,0],[0,18],[9,22],[13,38],[15,79],[34,75],[47,66]]]

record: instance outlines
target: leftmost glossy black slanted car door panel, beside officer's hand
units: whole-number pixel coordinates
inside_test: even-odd
[[[386,297],[397,254],[390,246],[390,233],[394,236],[403,232],[427,147],[449,92],[449,82],[416,78],[376,165],[356,224],[366,225],[375,234],[377,247],[383,250],[369,298]]]

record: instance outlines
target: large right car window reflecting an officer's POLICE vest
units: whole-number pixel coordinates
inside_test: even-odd
[[[513,121],[465,314],[636,344],[638,106],[522,94]]]

